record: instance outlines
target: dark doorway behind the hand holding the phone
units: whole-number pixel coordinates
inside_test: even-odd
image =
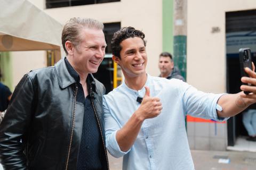
[[[256,10],[226,12],[226,57],[227,57],[227,92],[235,94],[240,90],[241,73],[239,48],[251,48],[252,61],[256,62]],[[256,108],[256,105],[251,107]],[[228,146],[234,147],[239,138],[247,137],[242,122],[242,114],[229,118]],[[255,147],[256,147],[256,142]]]

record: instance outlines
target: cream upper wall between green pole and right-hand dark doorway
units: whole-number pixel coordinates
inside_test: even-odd
[[[253,8],[255,0],[188,1],[188,83],[202,91],[226,92],[225,12]],[[212,27],[220,32],[211,33]]]

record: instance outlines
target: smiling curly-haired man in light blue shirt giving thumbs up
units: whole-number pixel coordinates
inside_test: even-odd
[[[185,114],[226,120],[256,102],[256,87],[241,86],[250,95],[206,94],[177,79],[151,77],[146,73],[144,33],[121,28],[111,40],[113,60],[125,80],[103,96],[106,146],[111,155],[124,156],[123,169],[194,169]],[[246,68],[256,85],[256,73]],[[142,101],[139,97],[143,97]],[[161,114],[160,114],[161,113]]]

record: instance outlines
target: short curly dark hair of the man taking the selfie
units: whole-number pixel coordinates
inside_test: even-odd
[[[116,31],[113,38],[111,39],[112,54],[117,56],[121,60],[120,51],[122,50],[122,47],[120,44],[123,40],[131,37],[140,37],[146,47],[146,40],[144,39],[145,34],[142,31],[136,30],[133,27],[123,27],[120,30]]]

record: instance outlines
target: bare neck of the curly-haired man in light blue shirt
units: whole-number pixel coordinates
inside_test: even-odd
[[[147,81],[147,74],[142,74],[139,77],[125,77],[125,84],[128,86],[130,89],[133,90],[140,90],[142,89]]]

